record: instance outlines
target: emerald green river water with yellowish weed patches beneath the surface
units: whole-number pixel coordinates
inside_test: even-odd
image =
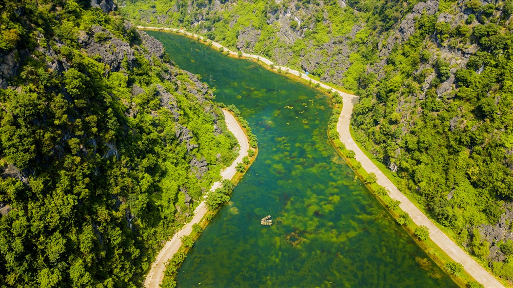
[[[187,255],[180,287],[457,287],[330,146],[324,94],[186,37],[148,33],[259,138],[257,161]],[[272,226],[260,225],[266,215]]]

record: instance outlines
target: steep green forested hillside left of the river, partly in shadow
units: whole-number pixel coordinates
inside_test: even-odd
[[[141,286],[236,155],[212,91],[111,1],[0,11],[0,286]]]

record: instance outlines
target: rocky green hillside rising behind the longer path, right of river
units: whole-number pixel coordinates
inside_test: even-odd
[[[511,0],[120,1],[360,95],[354,137],[467,250],[513,280]]]

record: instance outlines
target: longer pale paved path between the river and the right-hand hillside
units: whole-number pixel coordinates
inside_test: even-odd
[[[356,153],[357,151],[359,152],[357,161],[365,162],[365,166],[363,166],[364,163],[361,163],[360,168],[363,167],[362,169],[365,169],[366,173],[373,172],[374,174],[376,174],[376,177],[379,178],[379,179],[377,179],[377,180],[379,180],[378,184],[381,185],[381,183],[385,182],[384,179],[387,179],[386,176],[384,176],[383,172],[381,172],[381,170],[379,170],[376,167],[376,165],[374,165],[373,162],[368,157],[365,156],[365,153],[363,153],[363,151],[356,145],[356,142],[354,142],[354,140],[350,136],[350,133],[349,133],[350,115],[352,112],[353,104],[358,101],[358,97],[356,95],[351,95],[345,91],[341,91],[339,89],[334,89],[332,86],[329,86],[329,85],[321,83],[317,80],[311,79],[310,77],[308,77],[307,75],[305,75],[299,71],[292,70],[287,67],[274,66],[274,64],[271,61],[269,61],[268,59],[265,59],[265,57],[261,57],[261,56],[253,55],[253,54],[247,54],[247,53],[235,53],[233,51],[230,51],[228,48],[223,47],[219,43],[215,43],[215,42],[211,42],[211,41],[205,42],[204,38],[202,36],[199,36],[199,35],[196,35],[193,33],[189,33],[189,32],[183,31],[183,30],[180,31],[179,29],[172,29],[172,28],[156,28],[156,27],[139,27],[139,28],[150,28],[150,29],[160,30],[160,31],[178,32],[179,34],[183,34],[185,36],[191,37],[192,39],[198,40],[199,42],[203,42],[206,45],[216,48],[219,51],[221,51],[229,56],[256,60],[259,64],[262,64],[262,63],[266,64],[263,66],[274,71],[274,72],[284,73],[288,76],[293,76],[294,78],[298,77],[298,78],[302,79],[303,81],[307,81],[307,83],[311,83],[311,85],[313,85],[314,87],[323,88],[327,91],[334,91],[334,92],[339,93],[343,99],[344,106],[339,115],[339,121],[337,123],[337,130],[340,130],[339,125],[342,125],[342,126],[340,126],[342,130],[346,130],[346,131],[340,133],[341,137],[339,140],[341,141],[341,143],[343,143],[345,146],[347,146],[348,149],[354,151],[354,153]],[[347,121],[345,121],[344,119]],[[354,145],[352,145],[352,144],[354,144]],[[349,146],[350,146],[350,148],[349,148]],[[362,155],[363,155],[363,157],[362,157]],[[367,161],[362,160],[364,158],[366,158]],[[373,165],[373,167],[372,167],[372,165]],[[375,168],[375,170],[374,170],[374,168]],[[355,171],[356,170],[358,170],[358,169],[355,169]],[[384,179],[383,179],[383,177],[384,177]],[[376,184],[376,185],[378,185],[378,184]],[[390,193],[391,199],[399,201],[400,204],[398,204],[398,206],[402,210],[404,210],[406,213],[412,214],[411,218],[416,225],[428,226],[425,224],[430,223],[430,225],[428,226],[429,231],[430,231],[430,237],[433,238],[434,242],[432,242],[433,243],[432,246],[428,246],[428,247],[421,245],[425,249],[426,252],[429,253],[432,249],[438,249],[440,247],[440,249],[441,249],[441,251],[443,251],[443,253],[446,253],[447,255],[449,255],[454,261],[463,264],[465,271],[468,272],[473,278],[475,278],[479,282],[483,283],[485,286],[487,286],[487,287],[488,286],[489,287],[502,287],[503,286],[494,277],[492,277],[483,267],[479,266],[479,264],[477,264],[477,262],[475,262],[472,258],[470,258],[460,247],[458,247],[456,245],[456,243],[454,243],[447,236],[445,236],[443,234],[443,232],[438,227],[436,227],[429,219],[427,219],[427,217],[425,215],[422,214],[422,212],[420,212],[420,210],[415,205],[413,205],[411,203],[411,201],[409,201],[406,197],[404,197],[404,195],[401,194],[401,192],[397,189],[397,187],[395,187],[393,184],[391,184],[391,186],[387,186],[387,185],[381,185],[381,186],[384,186],[385,188],[387,188],[390,191],[392,191],[392,189],[394,188],[393,193],[392,192]],[[390,187],[393,187],[393,188],[390,188]],[[414,207],[414,209],[411,209],[410,206]],[[428,222],[419,221],[419,219],[421,219],[422,217],[417,215],[417,212],[415,210],[419,211],[420,214],[423,216],[423,218],[425,218],[423,220],[427,220]],[[436,237],[439,234],[445,236],[445,239],[443,239],[443,237],[442,238]],[[441,242],[435,241],[437,239]],[[429,241],[425,241],[425,242],[429,243]],[[439,247],[437,247],[437,245]],[[459,249],[459,251],[458,251],[458,249]],[[456,254],[453,254],[453,253],[456,253]],[[476,267],[475,264],[478,265],[478,267]],[[443,265],[443,263],[442,263],[442,265]],[[471,279],[471,277],[469,277],[469,279]],[[461,284],[461,281],[459,283]]]

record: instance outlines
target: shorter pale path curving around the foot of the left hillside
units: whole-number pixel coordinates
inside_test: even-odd
[[[243,173],[238,172],[236,166],[239,163],[243,163],[244,157],[248,156],[248,150],[250,149],[249,140],[246,136],[246,133],[240,123],[235,119],[234,115],[226,109],[223,109],[223,113],[225,116],[226,126],[230,132],[233,133],[241,149],[239,150],[239,156],[233,161],[233,163],[226,167],[221,171],[221,178],[224,180],[234,180],[238,182],[240,178],[242,178]],[[250,159],[250,164],[254,161],[254,158],[257,156],[255,152],[253,157]],[[249,165],[250,165],[249,164]],[[249,167],[248,165],[248,167]],[[247,170],[247,167],[246,167]],[[235,177],[236,175],[241,174],[239,177]],[[235,182],[235,184],[236,184]],[[212,184],[210,188],[210,192],[214,191],[217,188],[220,188],[222,185],[221,181],[215,182]],[[206,198],[206,196],[204,196]],[[166,245],[162,248],[160,253],[155,258],[155,261],[152,263],[150,271],[146,276],[144,281],[144,286],[147,288],[159,287],[164,279],[164,275],[166,272],[167,264],[169,260],[179,252],[182,247],[182,237],[189,236],[193,233],[194,224],[200,224],[202,228],[206,226],[208,221],[205,221],[208,216],[208,209],[205,200],[203,200],[198,207],[194,210],[194,217],[192,220],[187,223],[179,232],[175,233],[173,238],[169,240]],[[194,238],[199,237],[199,234],[196,233]]]

